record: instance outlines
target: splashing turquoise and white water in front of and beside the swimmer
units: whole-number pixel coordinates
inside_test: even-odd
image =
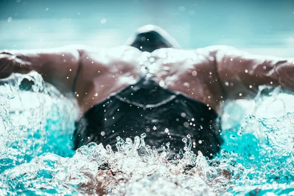
[[[24,77],[38,94],[19,89]],[[117,138],[115,153],[73,151],[74,104],[37,73],[10,80],[0,86],[0,195],[294,195],[294,96],[278,88],[224,104],[219,156],[196,156],[188,136],[168,161],[169,147],[153,150],[145,135]]]

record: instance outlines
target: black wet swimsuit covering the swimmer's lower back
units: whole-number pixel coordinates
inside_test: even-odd
[[[83,115],[76,123],[74,146],[95,142],[116,149],[117,136],[125,140],[146,133],[149,146],[170,142],[177,153],[184,147],[182,138],[190,134],[196,146],[193,150],[212,157],[222,143],[220,132],[220,118],[215,110],[143,76]]]

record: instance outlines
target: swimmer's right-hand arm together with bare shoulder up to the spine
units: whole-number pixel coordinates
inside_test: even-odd
[[[226,99],[253,98],[260,85],[294,91],[294,58],[254,55],[230,46],[152,54],[159,65],[154,69],[158,81],[217,111]]]

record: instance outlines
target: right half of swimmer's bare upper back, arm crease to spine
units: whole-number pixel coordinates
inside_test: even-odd
[[[170,90],[218,109],[222,98],[215,59],[208,49],[158,49],[152,52],[153,76]]]

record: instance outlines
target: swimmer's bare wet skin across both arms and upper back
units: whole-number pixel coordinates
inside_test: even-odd
[[[74,94],[80,116],[109,95],[136,83],[142,66],[160,84],[218,112],[226,99],[252,98],[259,85],[294,90],[293,58],[252,55],[228,46],[163,48],[149,53],[130,46],[96,49],[74,45],[0,52],[1,78],[35,70],[64,94]]]

